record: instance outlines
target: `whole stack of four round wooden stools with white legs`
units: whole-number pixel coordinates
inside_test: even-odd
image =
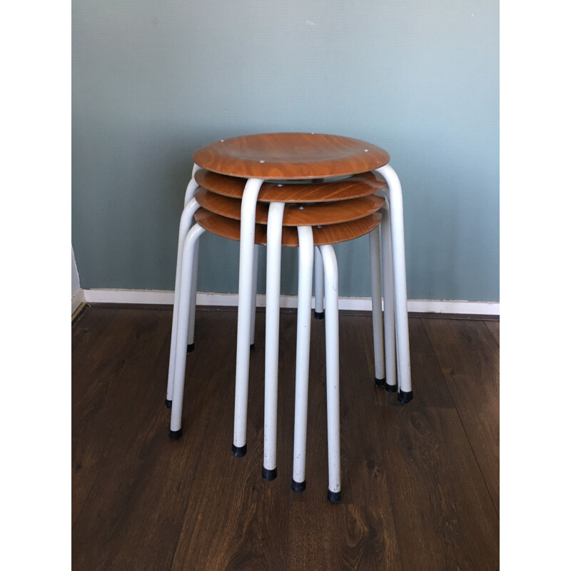
[[[195,153],[193,179],[187,188],[186,206],[179,229],[167,389],[167,404],[172,403],[171,438],[181,435],[186,348],[187,345],[193,346],[198,238],[208,230],[240,241],[232,449],[236,456],[246,453],[256,244],[267,243],[263,476],[268,480],[276,477],[281,246],[299,246],[292,487],[296,491],[305,488],[310,304],[315,246],[315,253],[318,253],[315,256],[316,316],[323,312],[323,273],[327,310],[328,497],[332,502],[340,500],[338,288],[337,263],[331,244],[369,234],[375,382],[378,385],[384,384],[390,391],[397,390],[398,387],[400,402],[406,403],[413,396],[408,348],[402,196],[398,177],[388,166],[388,160],[388,153],[370,143],[317,133],[267,133],[236,137],[217,141]],[[384,335],[380,305],[380,211],[383,212]],[[191,228],[193,216],[196,217],[196,224]]]

